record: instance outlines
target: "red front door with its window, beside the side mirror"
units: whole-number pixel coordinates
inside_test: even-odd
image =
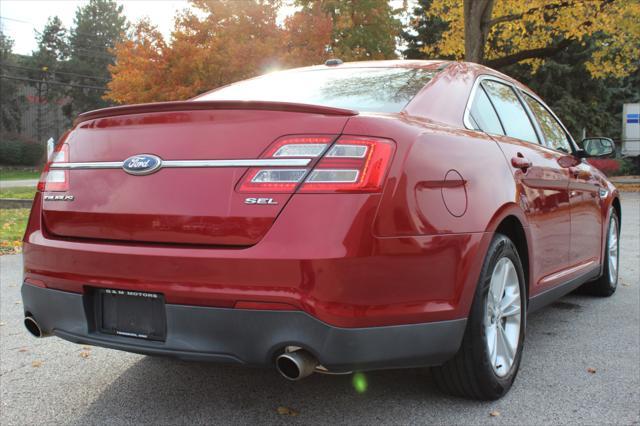
[[[547,146],[564,154],[563,163],[569,169],[569,204],[571,207],[571,265],[600,262],[602,242],[602,203],[600,179],[592,166],[573,155],[570,136],[551,113],[534,96],[525,93],[524,99],[540,126]]]

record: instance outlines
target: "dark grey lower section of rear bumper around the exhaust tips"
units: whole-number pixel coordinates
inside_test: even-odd
[[[165,342],[95,330],[87,295],[23,284],[26,313],[44,332],[91,344],[184,360],[270,366],[285,346],[313,353],[331,371],[438,365],[460,346],[466,319],[339,328],[300,311],[258,311],[167,304]]]

